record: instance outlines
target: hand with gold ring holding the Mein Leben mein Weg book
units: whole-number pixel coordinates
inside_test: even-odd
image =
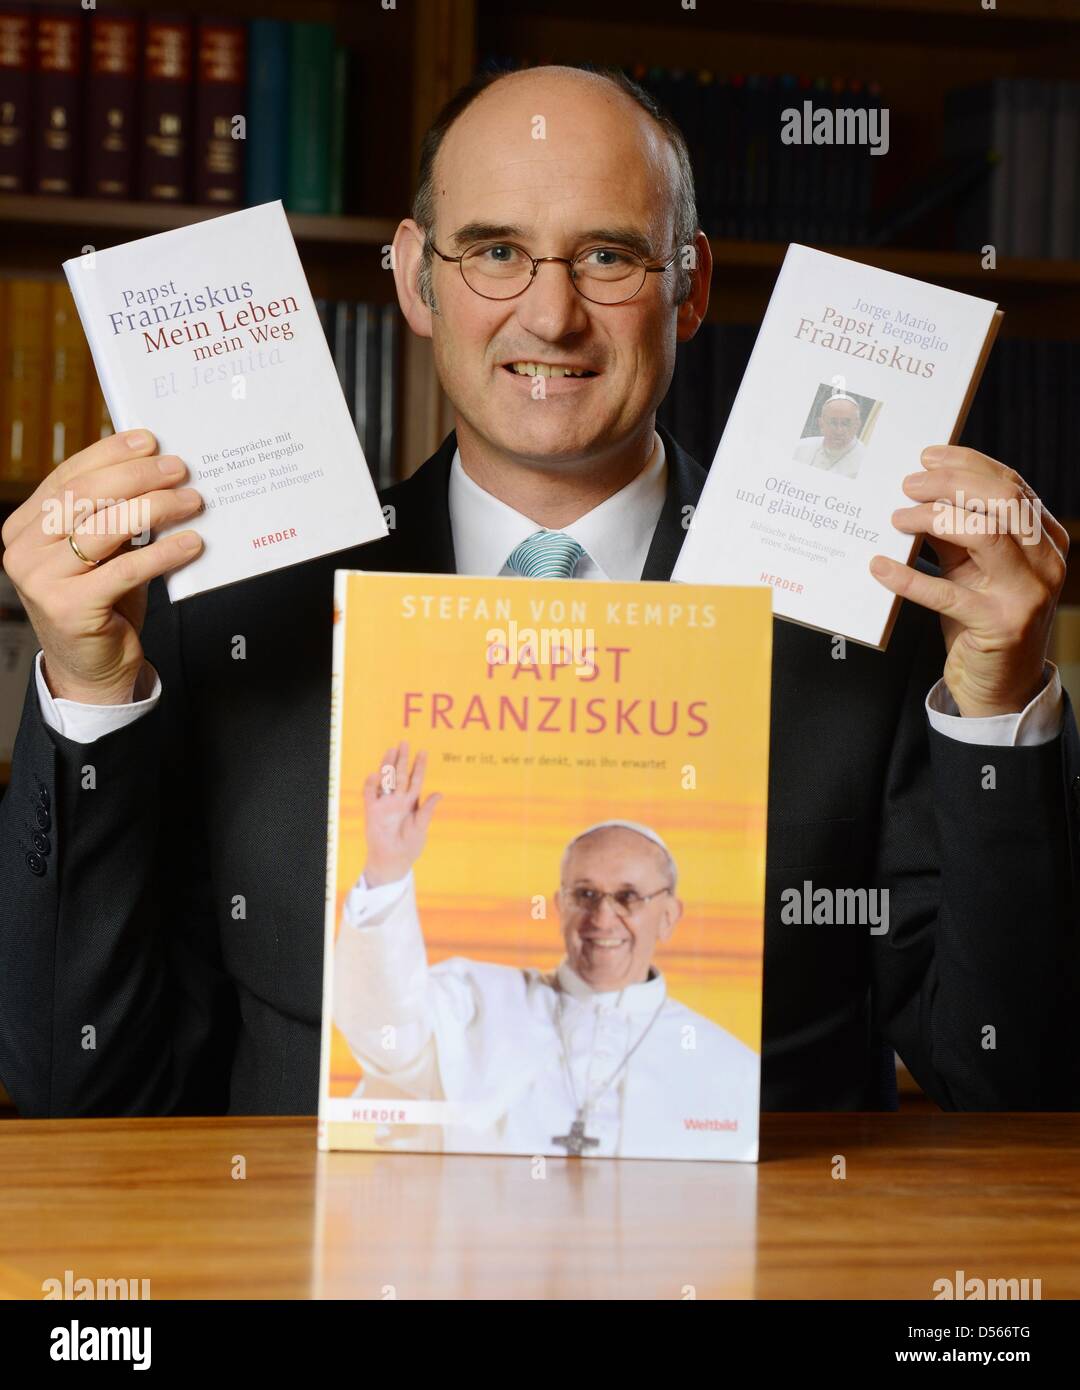
[[[177,486],[186,473],[174,455],[158,457],[149,430],[126,430],[65,459],[4,523],[4,570],[42,644],[57,699],[131,701],[145,664],[147,584],[193,560],[203,542],[195,531],[128,542],[202,509],[195,488]],[[96,566],[75,555],[69,530]]]

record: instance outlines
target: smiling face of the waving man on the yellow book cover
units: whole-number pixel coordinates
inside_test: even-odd
[[[621,990],[649,977],[656,944],[667,941],[682,910],[674,892],[657,892],[670,885],[663,851],[634,830],[613,826],[574,845],[556,902],[567,959],[585,984]],[[582,906],[575,901],[582,890],[656,897],[634,909],[619,908],[612,898]]]

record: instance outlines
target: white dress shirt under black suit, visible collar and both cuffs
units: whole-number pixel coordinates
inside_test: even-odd
[[[577,521],[562,527],[585,548],[574,578],[639,580],[666,493],[667,460],[663,442],[655,435],[649,461],[635,478]],[[449,509],[459,574],[509,574],[506,560],[514,546],[539,530],[537,521],[475,484],[461,467],[459,450],[455,450],[450,464]],[[153,671],[149,662],[147,667]],[[940,734],[962,744],[998,748],[1048,744],[1061,733],[1065,702],[1061,677],[1052,662],[1045,663],[1044,676],[1045,685],[1026,709],[988,719],[963,719],[945,681],[940,680],[926,698],[927,717]],[[42,674],[40,652],[35,657],[35,680],[46,724],[76,744],[92,744],[131,724],[149,713],[161,695],[161,680],[153,671],[150,694],[129,705],[83,705],[56,699]]]

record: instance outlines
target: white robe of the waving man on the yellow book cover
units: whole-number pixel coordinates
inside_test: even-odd
[[[664,977],[594,991],[552,973],[453,956],[429,966],[411,872],[345,899],[334,1022],[364,1079],[356,1097],[406,1106],[377,1144],[555,1154],[588,1101],[587,1156],[758,1156],[760,1059],[667,994]],[[632,1052],[631,1052],[632,1049]]]

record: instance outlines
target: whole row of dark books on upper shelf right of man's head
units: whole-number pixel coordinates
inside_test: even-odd
[[[685,135],[710,236],[884,245],[937,214],[940,245],[952,236],[958,249],[990,243],[998,256],[1080,256],[1077,82],[1001,79],[949,92],[942,149],[884,197],[876,156],[899,132],[890,133],[874,81],[641,63],[623,71]]]

